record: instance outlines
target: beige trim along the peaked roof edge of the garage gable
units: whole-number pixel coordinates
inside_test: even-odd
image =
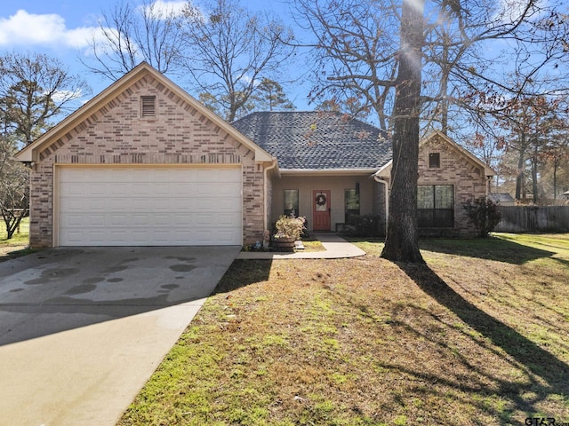
[[[105,108],[109,103],[115,101],[125,91],[129,91],[133,85],[148,77],[155,79],[159,84],[164,84],[164,86],[180,97],[180,99],[186,102],[189,106],[195,108],[199,114],[204,116],[204,118],[211,121],[221,130],[224,130],[233,138],[236,138],[239,143],[249,148],[255,154],[256,162],[273,161],[271,155],[260,146],[255,145],[252,140],[239,133],[235,128],[228,124],[228,122],[222,120],[217,114],[214,114],[212,111],[207,109],[204,105],[191,97],[186,91],[182,90],[180,86],[173,83],[170,79],[156,71],[154,67],[151,67],[146,62],[142,62],[139,66],[134,67],[129,73],[118,79],[115,83],[112,83],[104,91],[101,91],[84,106],[76,109],[74,113],[69,114],[68,117],[64,118],[55,127],[44,133],[40,138],[37,138],[32,144],[23,148],[15,155],[16,160],[19,160],[20,162],[38,162],[39,153],[47,149],[49,146],[52,146],[52,144],[60,143],[58,141],[68,134],[68,132],[76,129],[83,122],[92,120],[92,117],[102,108]]]

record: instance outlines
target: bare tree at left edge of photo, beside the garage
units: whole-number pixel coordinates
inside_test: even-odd
[[[72,101],[89,91],[57,59],[40,54],[0,57],[0,211],[8,239],[28,211],[28,169],[13,160],[16,151],[52,127]]]

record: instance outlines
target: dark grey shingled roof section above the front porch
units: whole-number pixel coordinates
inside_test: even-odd
[[[233,126],[275,156],[281,170],[378,170],[392,156],[380,129],[341,113],[252,113]]]

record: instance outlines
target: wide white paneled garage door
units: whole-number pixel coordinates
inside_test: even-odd
[[[241,245],[240,167],[57,168],[59,246]]]

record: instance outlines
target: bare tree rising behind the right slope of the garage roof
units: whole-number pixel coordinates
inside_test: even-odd
[[[278,80],[280,68],[293,54],[289,28],[248,12],[237,0],[188,3],[181,29],[192,84],[228,122],[246,109],[263,77]]]

